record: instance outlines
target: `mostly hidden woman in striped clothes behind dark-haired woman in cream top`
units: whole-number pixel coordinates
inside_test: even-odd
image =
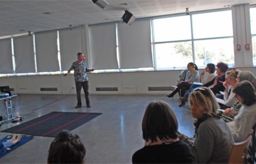
[[[241,81],[248,80],[250,83],[256,87],[256,78],[250,71],[240,71],[237,75],[236,83],[240,83]],[[223,113],[221,113],[221,117],[226,121],[230,122],[234,120],[234,116],[239,112],[242,104],[240,104],[237,100],[234,101],[234,104],[231,108],[226,108]]]

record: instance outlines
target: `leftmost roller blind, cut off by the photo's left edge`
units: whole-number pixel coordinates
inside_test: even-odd
[[[0,73],[13,73],[11,38],[0,40]]]

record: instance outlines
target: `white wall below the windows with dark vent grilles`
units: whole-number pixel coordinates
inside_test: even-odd
[[[238,69],[249,70],[256,76],[255,67]],[[179,73],[180,70],[89,73],[89,92],[90,94],[166,94],[170,91],[148,91],[148,87],[175,86]],[[0,86],[10,86],[10,88],[14,88],[14,92],[21,94],[76,93],[73,75],[0,77],[0,84]],[[40,88],[44,87],[58,88],[58,91],[40,91]],[[96,91],[96,87],[118,87],[118,91]]]

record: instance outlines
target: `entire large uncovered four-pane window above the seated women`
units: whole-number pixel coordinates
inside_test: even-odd
[[[234,65],[230,10],[153,19],[153,38],[156,69]]]

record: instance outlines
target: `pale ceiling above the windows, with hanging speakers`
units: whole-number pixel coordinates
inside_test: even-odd
[[[137,18],[256,4],[256,0],[105,0],[105,9],[92,0],[0,0],[0,36],[38,32],[121,20],[124,9]],[[128,5],[121,5],[128,3]],[[229,6],[228,6],[229,5]],[[52,14],[43,14],[51,12]]]

